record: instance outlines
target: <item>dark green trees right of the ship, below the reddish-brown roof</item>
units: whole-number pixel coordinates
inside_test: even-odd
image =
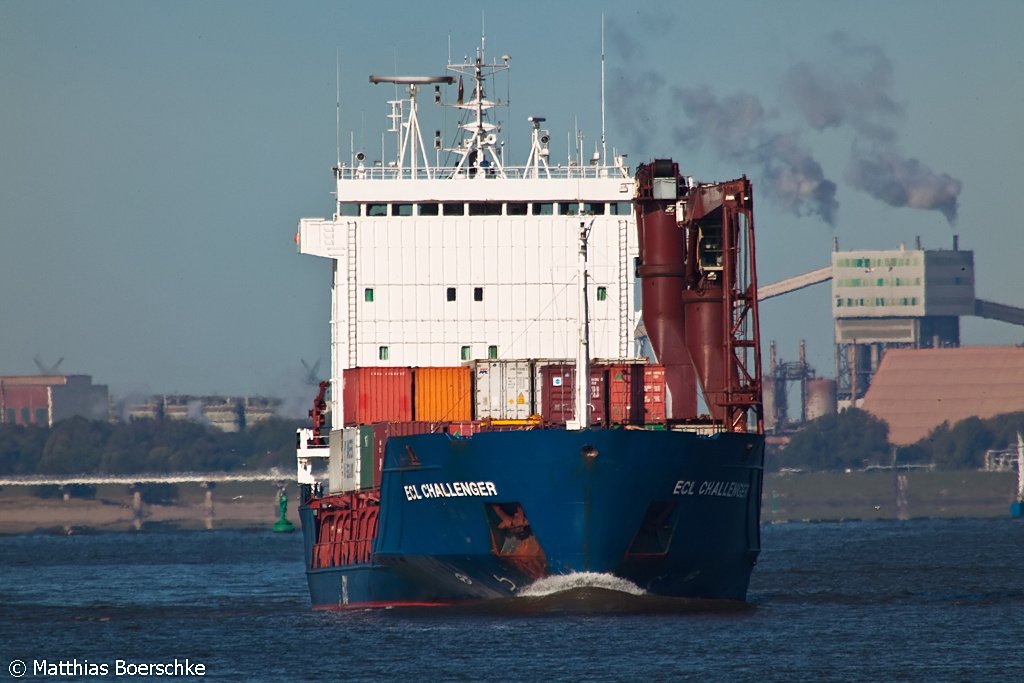
[[[983,466],[986,451],[1015,445],[1017,432],[1024,432],[1024,413],[968,418],[952,426],[943,423],[916,443],[894,446],[885,421],[851,408],[805,424],[785,446],[769,450],[767,465],[771,470],[862,469],[890,466],[895,457],[899,465],[973,470]]]

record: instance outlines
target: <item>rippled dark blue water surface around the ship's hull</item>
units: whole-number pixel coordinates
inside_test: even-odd
[[[117,659],[176,657],[217,681],[1024,680],[1019,520],[780,524],[762,545],[746,605],[605,578],[328,613],[309,609],[298,535],[0,537],[0,672],[77,659],[111,673],[60,680],[114,680]]]

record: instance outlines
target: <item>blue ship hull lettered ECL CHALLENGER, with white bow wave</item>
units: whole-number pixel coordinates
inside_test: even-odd
[[[763,464],[758,434],[393,437],[368,561],[317,566],[317,499],[300,507],[312,604],[507,598],[574,572],[614,574],[657,596],[744,600],[760,551]]]

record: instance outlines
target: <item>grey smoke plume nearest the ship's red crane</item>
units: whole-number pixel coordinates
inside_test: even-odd
[[[785,209],[835,222],[836,183],[798,133],[772,128],[757,96],[740,92],[719,99],[706,85],[674,88],[673,95],[689,120],[675,127],[677,142],[689,150],[708,142],[722,159],[753,165],[761,187]]]

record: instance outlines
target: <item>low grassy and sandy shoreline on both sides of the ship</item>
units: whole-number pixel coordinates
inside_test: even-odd
[[[776,524],[1009,517],[1016,480],[1012,472],[978,471],[768,473],[761,521]],[[94,499],[70,500],[36,498],[28,487],[11,486],[0,489],[0,536],[268,530],[278,520],[276,493],[276,486],[260,482],[223,484],[208,501],[206,489],[182,485],[175,502],[143,504],[136,513],[126,486],[97,486]],[[294,492],[290,499],[288,519],[298,529]]]

